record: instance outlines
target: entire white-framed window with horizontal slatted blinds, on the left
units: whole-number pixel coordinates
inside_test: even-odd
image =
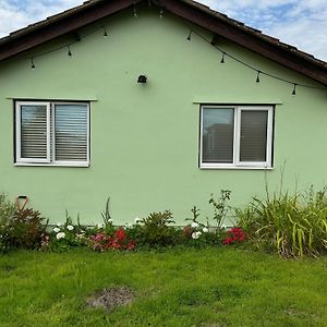
[[[16,164],[87,166],[89,105],[16,102]]]

